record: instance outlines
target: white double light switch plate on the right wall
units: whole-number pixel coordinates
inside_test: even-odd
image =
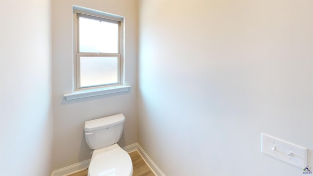
[[[261,133],[261,153],[268,154],[301,169],[307,166],[307,149]]]

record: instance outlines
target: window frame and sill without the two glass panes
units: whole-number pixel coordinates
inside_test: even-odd
[[[116,22],[119,24],[119,44],[118,53],[84,53],[79,52],[79,16]],[[90,87],[80,86],[80,57],[110,57],[118,58],[118,82],[115,84],[97,85]],[[89,9],[86,7],[73,5],[73,90],[72,93],[65,94],[67,100],[98,96],[109,93],[128,91],[131,87],[125,86],[125,66],[124,66],[124,17]]]

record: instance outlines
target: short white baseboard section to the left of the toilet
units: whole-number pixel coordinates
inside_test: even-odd
[[[90,159],[52,171],[51,176],[67,176],[88,168]]]

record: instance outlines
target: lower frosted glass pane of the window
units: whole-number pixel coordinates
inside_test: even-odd
[[[118,83],[117,57],[80,57],[80,86]]]

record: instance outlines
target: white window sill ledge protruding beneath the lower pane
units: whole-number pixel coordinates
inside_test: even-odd
[[[124,92],[124,91],[128,91],[130,88],[131,86],[115,86],[115,87],[109,87],[109,88],[94,88],[94,89],[88,89],[88,90],[78,90],[78,91],[74,91],[73,93],[64,94],[63,97],[65,97],[67,100],[75,100],[79,98],[87,98],[87,97],[106,95],[106,94],[111,94],[111,93]]]

